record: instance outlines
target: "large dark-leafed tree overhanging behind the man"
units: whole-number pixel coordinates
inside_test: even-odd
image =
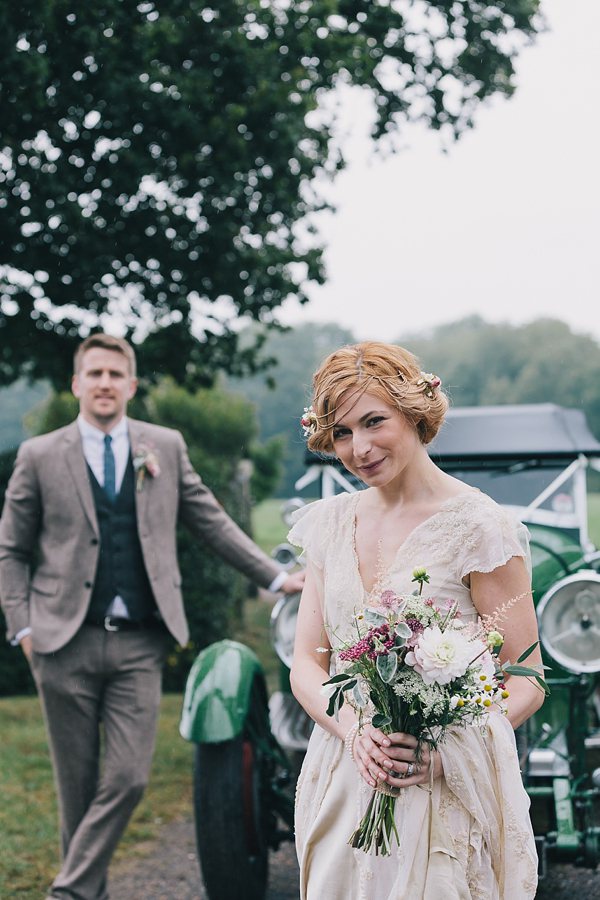
[[[157,376],[258,366],[236,320],[272,323],[321,282],[315,176],[340,82],[375,138],[458,135],[513,89],[538,0],[24,0],[0,6],[0,384],[64,388],[82,331],[116,317]]]

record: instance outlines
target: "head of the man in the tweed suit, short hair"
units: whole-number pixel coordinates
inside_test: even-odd
[[[106,432],[123,418],[136,387],[127,358],[104,347],[86,350],[73,376],[73,393],[83,418]]]

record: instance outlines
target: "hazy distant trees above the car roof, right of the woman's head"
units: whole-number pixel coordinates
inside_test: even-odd
[[[600,346],[556,319],[492,325],[478,316],[400,340],[434,371],[454,406],[557,403],[600,436]]]

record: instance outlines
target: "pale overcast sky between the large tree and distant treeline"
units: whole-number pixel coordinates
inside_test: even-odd
[[[378,156],[360,96],[348,166],[320,214],[328,280],[280,320],[398,340],[478,314],[562,319],[600,341],[600,2],[542,0],[549,30],[516,64],[517,91],[481,107],[448,153],[418,126]]]

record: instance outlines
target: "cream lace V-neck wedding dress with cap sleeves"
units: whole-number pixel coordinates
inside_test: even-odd
[[[291,543],[303,548],[319,585],[332,645],[350,637],[351,618],[368,598],[354,541],[359,497],[340,494],[304,507],[289,534]],[[414,529],[385,570],[386,585],[412,593],[412,570],[425,566],[431,579],[425,593],[436,602],[458,600],[468,621],[477,617],[469,573],[490,572],[512,556],[528,559],[527,530],[485,494],[469,490]],[[343,742],[315,726],[296,794],[301,900],[535,896],[529,798],[510,724],[497,713],[485,735],[477,727],[450,728],[440,752],[444,776],[436,779],[431,795],[417,786],[401,791],[399,845],[393,842],[391,856],[375,856],[348,844],[371,788]]]

